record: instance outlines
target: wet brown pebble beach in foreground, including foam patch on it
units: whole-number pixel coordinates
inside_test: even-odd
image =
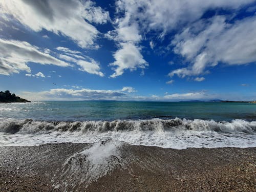
[[[256,148],[102,142],[0,147],[0,154],[0,191],[256,191]]]

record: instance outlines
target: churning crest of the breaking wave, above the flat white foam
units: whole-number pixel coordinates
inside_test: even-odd
[[[16,120],[2,119],[0,132],[5,133],[48,133],[48,132],[180,132],[180,131],[212,131],[212,132],[245,132],[256,131],[256,121],[242,119],[227,121],[214,121],[202,119],[149,119],[149,120],[114,120],[114,121],[36,121],[32,119]]]

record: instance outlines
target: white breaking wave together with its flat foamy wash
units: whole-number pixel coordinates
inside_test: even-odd
[[[180,118],[75,122],[2,119],[0,132],[1,146],[92,143],[106,139],[179,149],[256,146],[256,121],[241,119],[230,122]]]

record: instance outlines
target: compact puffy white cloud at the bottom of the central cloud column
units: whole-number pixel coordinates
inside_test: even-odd
[[[134,71],[137,68],[145,69],[148,66],[148,63],[143,59],[143,56],[140,54],[140,48],[131,43],[122,43],[121,49],[117,50],[114,53],[114,58],[116,61],[110,63],[109,66],[115,66],[112,68],[115,71],[111,77],[117,77],[122,75],[124,70],[130,69]]]

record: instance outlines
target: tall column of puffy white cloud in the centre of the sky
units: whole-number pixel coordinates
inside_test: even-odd
[[[124,11],[124,16],[117,16],[113,31],[109,31],[106,36],[116,41],[119,49],[114,53],[115,61],[109,66],[115,66],[112,70],[115,71],[110,77],[117,77],[124,73],[124,70],[137,70],[137,68],[145,69],[148,63],[144,60],[140,53],[141,47],[138,46],[142,39],[139,32],[139,25],[131,19],[131,13],[126,11],[126,7],[116,2],[117,13]],[[128,7],[127,7],[128,8]]]

